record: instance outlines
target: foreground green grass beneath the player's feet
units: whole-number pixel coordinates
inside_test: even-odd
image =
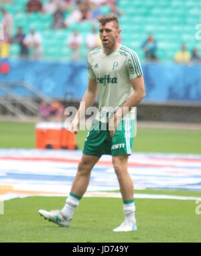
[[[175,243],[200,242],[200,215],[193,200],[135,199],[136,232],[115,233],[123,221],[118,198],[82,198],[70,228],[60,228],[37,213],[62,208],[64,198],[24,198],[5,202],[0,242]]]

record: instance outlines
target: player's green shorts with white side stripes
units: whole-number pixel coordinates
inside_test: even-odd
[[[108,124],[94,120],[84,142],[84,155],[131,155],[135,134],[135,120],[121,120],[113,137]]]

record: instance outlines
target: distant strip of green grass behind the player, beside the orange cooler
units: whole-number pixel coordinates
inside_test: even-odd
[[[78,148],[82,148],[86,133],[78,133]],[[0,148],[35,146],[35,124],[0,122]],[[138,128],[133,152],[201,154],[201,130]]]

